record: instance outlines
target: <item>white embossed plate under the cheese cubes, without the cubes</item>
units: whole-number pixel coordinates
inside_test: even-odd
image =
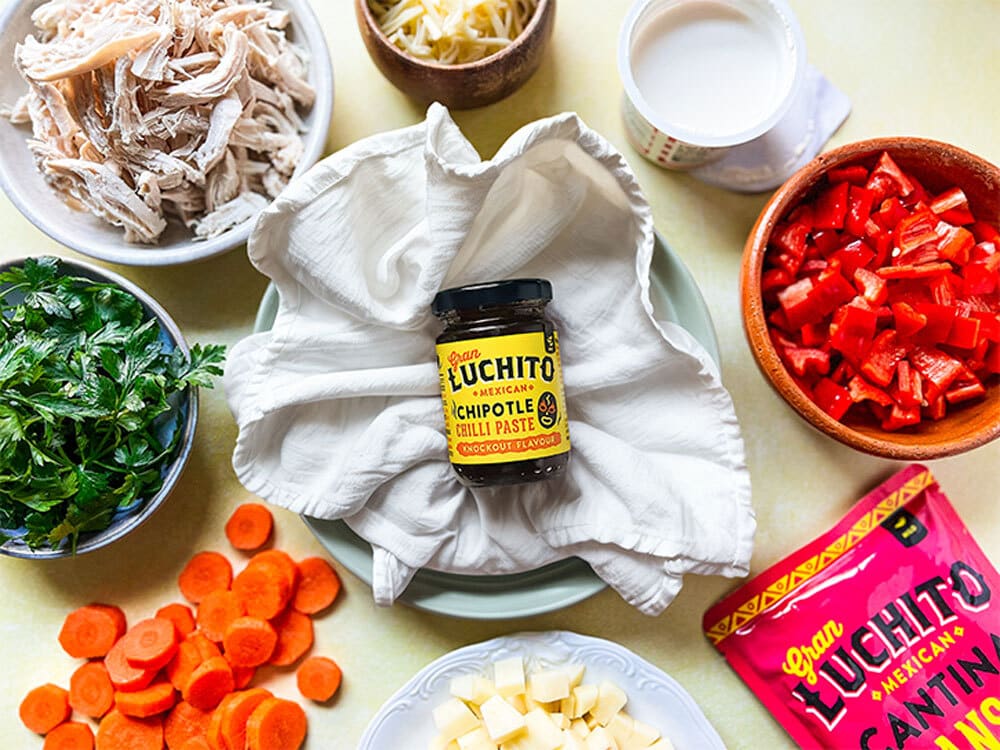
[[[616,683],[628,696],[629,715],[656,727],[677,750],[725,750],[701,709],[673,678],[617,643],[567,631],[518,633],[445,654],[382,706],[358,750],[429,747],[436,734],[431,712],[448,699],[451,679],[484,674],[488,664],[511,656],[523,657],[528,670],[581,664],[587,668],[585,683]]]

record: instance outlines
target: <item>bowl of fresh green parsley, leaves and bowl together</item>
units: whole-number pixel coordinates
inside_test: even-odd
[[[145,521],[180,476],[197,387],[223,357],[189,349],[116,274],[51,257],[0,266],[0,552],[88,552]]]

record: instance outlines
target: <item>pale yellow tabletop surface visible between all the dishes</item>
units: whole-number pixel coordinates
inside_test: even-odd
[[[9,1],[9,0],[8,0]],[[737,279],[743,242],[767,196],[743,196],[661,171],[627,145],[618,114],[617,31],[626,0],[559,0],[555,37],[541,69],[510,99],[455,113],[484,156],[519,126],[575,110],[632,163],[656,225],[691,269],[714,317],[723,377],[735,399],[753,480],[758,572],[825,531],[898,464],[867,457],[813,431],[771,391],[743,337]],[[421,107],[385,81],[361,44],[349,0],[314,0],[336,76],[327,151],[419,121]],[[853,112],[830,146],[882,135],[950,141],[1000,160],[1000,2],[997,0],[792,0],[809,60],[851,98]],[[3,66],[4,75],[12,75]],[[0,259],[70,254],[0,198]],[[232,344],[248,334],[267,280],[242,250],[204,263],[117,268],[156,297],[190,341]],[[669,415],[665,415],[669,416]],[[194,552],[227,551],[223,524],[252,499],[236,481],[236,436],[223,393],[202,392],[191,462],[176,493],[141,529],[79,559],[0,559],[0,747],[40,748],[17,719],[37,684],[68,684],[76,662],[56,643],[66,612],[94,600],[122,606],[131,620],[178,599],[176,576]],[[1000,442],[931,468],[994,563],[1000,562]],[[323,549],[300,520],[276,510],[278,546],[295,557]],[[467,622],[403,606],[377,609],[367,586],[343,574],[342,599],[316,622],[315,653],[336,659],[344,686],[331,706],[310,706],[309,750],[349,750],[379,706],[434,658],[519,630],[566,628],[610,638],[677,679],[731,748],[791,747],[785,733],[701,634],[702,613],[735,581],[687,579],[659,618],[638,614],[611,591],[570,609],[523,620]],[[290,672],[268,686],[294,697]],[[397,750],[389,749],[386,750]],[[408,750],[408,749],[399,749]],[[416,750],[416,749],[414,749]]]

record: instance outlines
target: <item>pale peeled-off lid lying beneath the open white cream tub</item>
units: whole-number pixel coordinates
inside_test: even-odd
[[[847,94],[809,65],[798,95],[777,125],[691,174],[742,193],[773,190],[812,161],[850,112]]]

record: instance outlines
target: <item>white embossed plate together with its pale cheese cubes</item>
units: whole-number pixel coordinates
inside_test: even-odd
[[[432,662],[358,750],[725,750],[675,680],[617,643],[519,633]]]

